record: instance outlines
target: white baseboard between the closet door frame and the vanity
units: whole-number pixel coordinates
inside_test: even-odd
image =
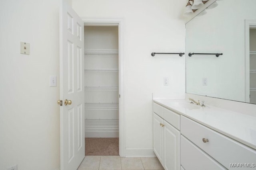
[[[156,157],[153,148],[126,148],[125,157]]]

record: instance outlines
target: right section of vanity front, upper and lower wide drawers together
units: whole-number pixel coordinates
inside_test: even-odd
[[[180,162],[184,169],[248,169],[241,164],[256,169],[256,150],[183,115],[180,121]]]

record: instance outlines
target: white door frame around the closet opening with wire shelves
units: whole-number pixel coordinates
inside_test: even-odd
[[[123,54],[123,18],[85,18],[84,25],[118,26],[118,74],[119,74],[119,155],[125,157],[125,121],[124,121],[124,54]]]

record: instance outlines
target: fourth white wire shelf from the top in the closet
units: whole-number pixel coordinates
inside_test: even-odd
[[[118,103],[85,103],[86,110],[118,110]]]

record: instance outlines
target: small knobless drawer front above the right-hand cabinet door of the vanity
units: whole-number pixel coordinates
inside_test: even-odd
[[[173,125],[176,129],[180,130],[180,115],[173,111],[164,108],[164,120]]]

